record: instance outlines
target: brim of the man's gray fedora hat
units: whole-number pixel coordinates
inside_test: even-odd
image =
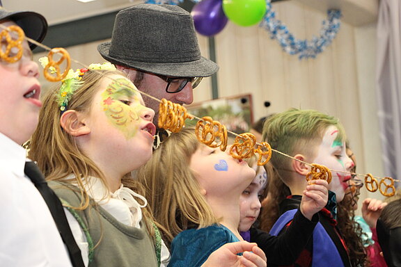
[[[134,60],[120,60],[109,55],[111,42],[103,42],[97,46],[97,51],[106,60],[116,65],[132,67],[143,72],[150,72],[172,77],[208,77],[219,70],[212,60],[201,57],[198,60],[178,63],[146,63]]]

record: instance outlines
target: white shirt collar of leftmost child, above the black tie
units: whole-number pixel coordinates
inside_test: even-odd
[[[0,165],[19,177],[24,176],[26,150],[15,141],[0,133]]]

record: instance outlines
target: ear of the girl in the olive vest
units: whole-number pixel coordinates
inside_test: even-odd
[[[84,123],[85,116],[79,111],[65,111],[60,118],[61,127],[72,136],[84,136],[91,133],[91,129]]]

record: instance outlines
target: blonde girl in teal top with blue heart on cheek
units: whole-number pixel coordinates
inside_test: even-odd
[[[255,170],[229,148],[207,147],[194,129],[173,133],[139,169],[155,219],[171,243],[171,266],[201,266],[239,235],[239,196]],[[174,238],[174,239],[173,239]]]

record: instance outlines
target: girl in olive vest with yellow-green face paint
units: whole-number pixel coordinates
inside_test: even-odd
[[[161,242],[130,175],[152,156],[154,112],[122,72],[85,71],[45,95],[29,156],[68,207],[86,266],[158,266]]]

